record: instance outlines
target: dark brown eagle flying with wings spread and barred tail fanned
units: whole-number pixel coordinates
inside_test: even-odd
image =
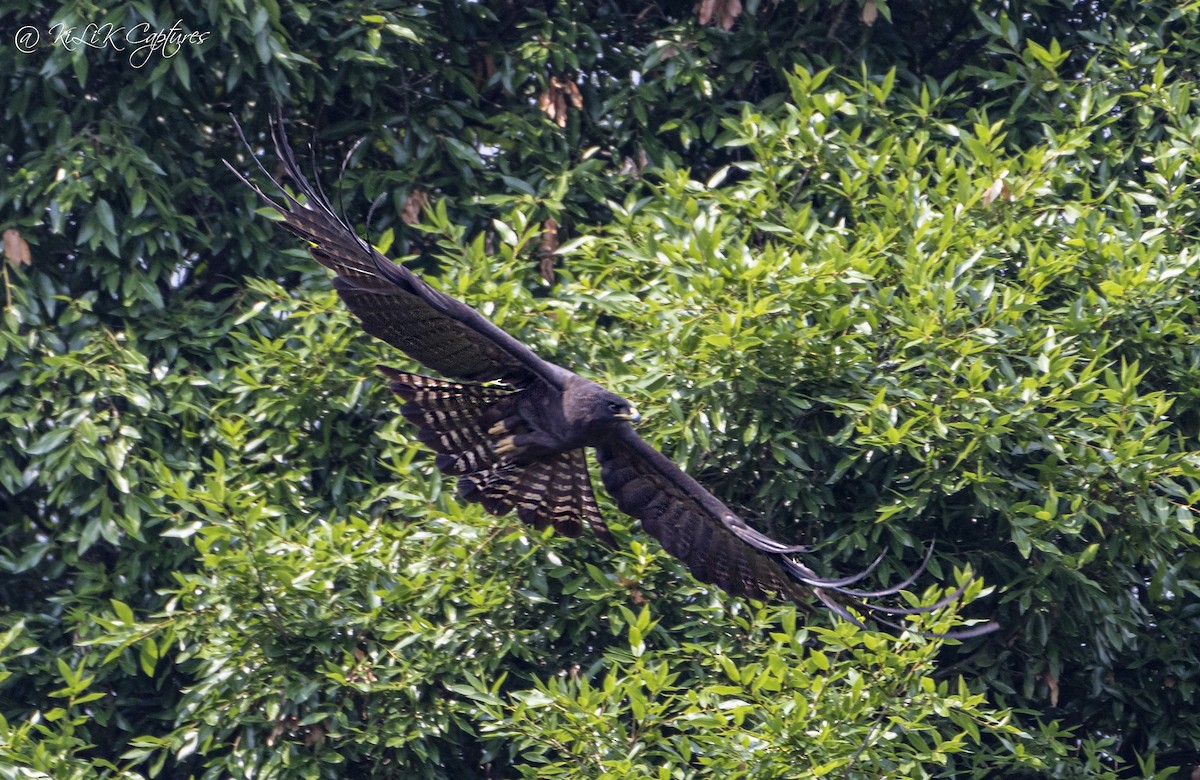
[[[667,552],[688,564],[694,577],[731,594],[802,606],[816,596],[854,624],[862,622],[850,606],[899,628],[880,613],[932,611],[961,592],[937,605],[908,610],[864,600],[898,593],[925,564],[905,582],[875,592],[850,586],[870,574],[878,560],[851,577],[817,576],[793,557],[804,547],[780,544],[748,526],[637,436],[631,424],[638,415],[629,401],[542,360],[475,310],[372,248],[301,173],[282,121],[272,122],[272,140],[304,202],[288,193],[257,158],[259,170],[278,191],[277,199],[226,164],[280,212],[283,227],[308,244],[318,263],[336,274],[334,288],[368,334],[449,377],[380,366],[392,391],[404,400],[403,415],[418,427],[420,440],[437,452],[438,468],[458,479],[463,499],[481,503],[493,515],[516,511],[534,528],[553,527],[564,536],[578,536],[587,524],[614,546],[592,493],[584,452],[592,448],[604,486],[620,511],[640,520]]]

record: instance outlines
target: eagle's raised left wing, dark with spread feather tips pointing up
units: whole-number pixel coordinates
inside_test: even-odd
[[[308,242],[318,263],[337,274],[334,287],[368,334],[455,379],[502,380],[522,386],[536,377],[562,386],[568,374],[564,368],[541,360],[479,312],[434,289],[359,238],[300,170],[282,124],[272,121],[271,130],[275,151],[287,178],[304,194],[304,203],[288,193],[257,158],[259,170],[278,190],[278,199],[266,196],[228,162],[226,166],[280,212],[289,232]]]

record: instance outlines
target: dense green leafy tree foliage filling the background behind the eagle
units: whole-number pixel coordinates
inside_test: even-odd
[[[0,776],[1187,776],[1198,20],[8,4]],[[221,164],[276,106],[373,244],[758,528],[884,583],[937,539],[914,601],[989,589],[922,626],[1001,631],[454,500],[402,361]]]

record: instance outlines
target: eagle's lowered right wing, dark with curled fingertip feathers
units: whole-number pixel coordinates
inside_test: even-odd
[[[841,580],[820,577],[792,557],[804,552],[804,547],[780,544],[748,526],[631,427],[619,428],[598,446],[596,457],[604,486],[617,502],[617,508],[638,518],[642,528],[662,542],[667,552],[688,564],[694,577],[734,595],[778,598],[802,604],[812,595],[858,625],[862,622],[847,606],[872,616],[884,625],[898,628],[880,616],[930,612],[946,606],[961,593],[955,592],[936,605],[913,610],[871,604],[866,600],[892,595],[908,587],[924,565],[890,588],[856,590],[848,586],[870,574],[875,564],[866,571]],[[986,624],[955,632],[954,636],[962,638],[994,629],[994,624]]]

